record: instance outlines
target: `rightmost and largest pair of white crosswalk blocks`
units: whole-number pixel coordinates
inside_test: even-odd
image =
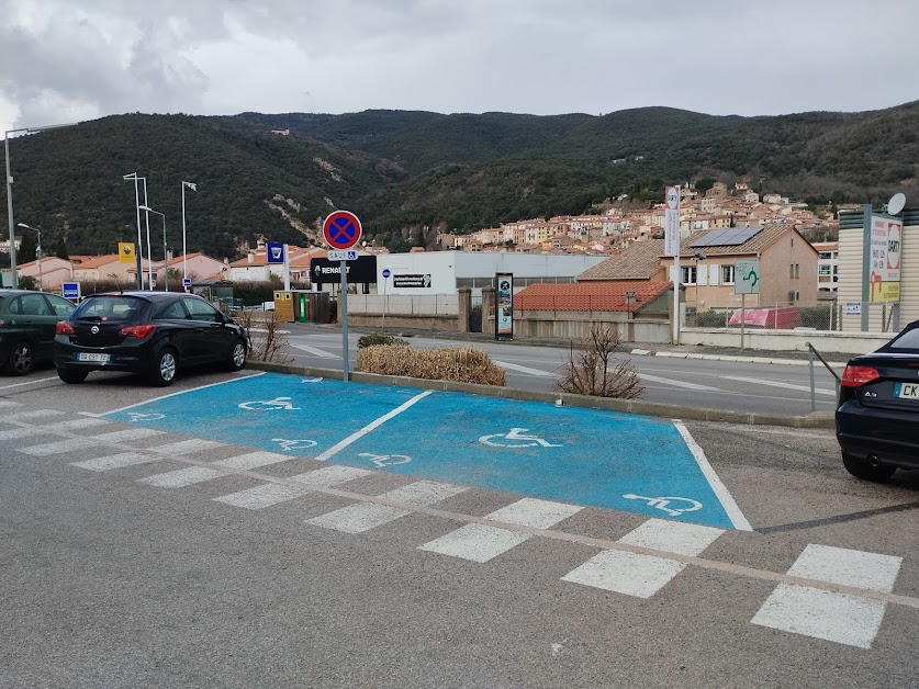
[[[889,592],[901,557],[809,544],[788,569],[803,578]],[[781,584],[752,623],[826,641],[871,648],[887,603],[882,600]]]

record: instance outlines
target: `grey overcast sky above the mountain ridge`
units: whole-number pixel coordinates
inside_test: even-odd
[[[125,112],[919,100],[917,0],[0,0],[0,128]]]

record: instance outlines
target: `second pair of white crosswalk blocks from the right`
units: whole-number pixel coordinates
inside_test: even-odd
[[[724,529],[649,519],[619,539],[620,543],[696,557],[725,532]],[[685,564],[628,551],[597,553],[562,577],[562,581],[606,591],[650,598],[680,574]]]

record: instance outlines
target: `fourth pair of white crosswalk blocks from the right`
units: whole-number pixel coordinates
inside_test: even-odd
[[[463,486],[455,486],[436,481],[416,481],[415,483],[384,493],[380,497],[396,502],[427,506],[445,500],[464,490],[467,488]],[[382,527],[405,515],[411,515],[411,511],[397,507],[390,507],[389,505],[358,502],[309,519],[306,523],[334,529],[335,531],[343,531],[345,533],[363,533],[370,529]]]

